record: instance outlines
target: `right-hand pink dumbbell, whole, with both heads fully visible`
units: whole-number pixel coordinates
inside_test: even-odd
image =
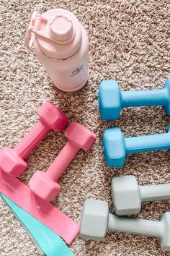
[[[68,142],[55,158],[48,171],[36,171],[30,179],[30,189],[43,200],[53,200],[61,191],[58,179],[80,149],[89,150],[96,135],[83,125],[73,121],[65,131]]]

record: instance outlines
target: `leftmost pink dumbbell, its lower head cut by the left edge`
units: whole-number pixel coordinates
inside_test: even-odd
[[[50,102],[41,106],[38,116],[40,116],[40,121],[14,148],[4,148],[0,151],[1,171],[12,176],[22,174],[27,168],[24,158],[52,129],[60,132],[68,124],[66,115]]]

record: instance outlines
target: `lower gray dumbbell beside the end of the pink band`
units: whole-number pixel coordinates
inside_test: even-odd
[[[118,217],[109,213],[107,202],[87,199],[81,212],[81,237],[102,240],[109,230],[156,236],[161,240],[161,248],[170,250],[169,212],[164,213],[160,221]]]

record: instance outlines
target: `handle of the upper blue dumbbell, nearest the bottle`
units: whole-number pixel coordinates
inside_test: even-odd
[[[168,104],[166,88],[160,90],[128,90],[121,91],[122,107],[161,106]]]

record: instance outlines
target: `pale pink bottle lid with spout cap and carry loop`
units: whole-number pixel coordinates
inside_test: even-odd
[[[44,14],[34,12],[25,36],[25,46],[35,43],[51,59],[67,59],[81,46],[82,26],[65,9],[51,9]]]

